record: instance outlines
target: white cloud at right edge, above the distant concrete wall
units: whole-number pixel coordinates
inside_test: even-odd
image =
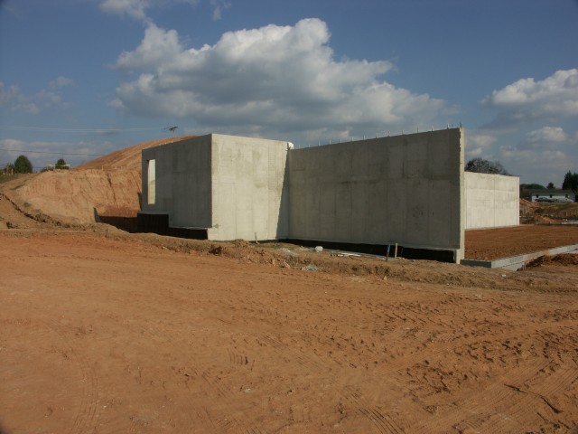
[[[578,116],[578,69],[556,71],[545,80],[517,80],[494,90],[482,101],[498,109],[496,126],[515,125],[537,119]]]

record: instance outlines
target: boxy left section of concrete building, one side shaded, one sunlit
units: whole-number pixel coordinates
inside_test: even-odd
[[[288,146],[210,134],[144,149],[140,229],[216,241],[287,238]]]

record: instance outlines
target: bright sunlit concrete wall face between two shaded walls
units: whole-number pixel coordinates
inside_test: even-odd
[[[211,135],[210,240],[287,237],[287,142]]]

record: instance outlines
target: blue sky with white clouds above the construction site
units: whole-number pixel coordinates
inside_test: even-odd
[[[578,0],[0,0],[0,165],[210,133],[462,126],[524,184],[578,172]]]

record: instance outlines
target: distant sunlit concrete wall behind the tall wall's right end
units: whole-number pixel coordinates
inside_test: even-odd
[[[519,224],[517,176],[464,174],[466,229],[495,228]]]

